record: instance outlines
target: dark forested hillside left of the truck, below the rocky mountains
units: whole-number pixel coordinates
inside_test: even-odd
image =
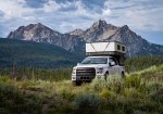
[[[3,68],[13,67],[13,64],[16,67],[66,67],[80,60],[82,56],[57,46],[0,38],[0,67]]]

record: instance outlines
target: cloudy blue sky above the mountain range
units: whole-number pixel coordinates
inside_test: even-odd
[[[98,20],[163,45],[163,0],[0,0],[0,37],[30,23],[68,33]]]

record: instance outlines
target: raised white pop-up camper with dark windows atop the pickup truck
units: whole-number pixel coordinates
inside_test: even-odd
[[[126,46],[122,42],[89,42],[86,43],[87,55],[110,55],[117,59],[120,64],[124,63]]]

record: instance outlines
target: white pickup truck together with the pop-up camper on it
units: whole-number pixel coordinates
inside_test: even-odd
[[[125,76],[124,66],[120,65],[126,53],[126,47],[121,42],[86,43],[89,55],[82,63],[73,67],[72,81],[91,81],[93,78],[106,79],[110,75]]]

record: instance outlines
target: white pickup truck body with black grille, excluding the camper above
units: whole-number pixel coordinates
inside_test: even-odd
[[[113,56],[88,56],[82,63],[73,67],[72,81],[76,85],[83,81],[91,81],[93,78],[104,78],[110,75],[125,76],[124,66]]]

